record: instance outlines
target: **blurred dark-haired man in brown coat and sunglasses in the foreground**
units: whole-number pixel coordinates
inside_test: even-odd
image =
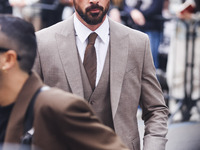
[[[20,143],[29,103],[44,84],[31,71],[37,48],[33,26],[1,15],[0,39],[0,142],[6,149]],[[33,127],[32,145],[42,150],[127,150],[83,99],[56,88],[36,97]]]

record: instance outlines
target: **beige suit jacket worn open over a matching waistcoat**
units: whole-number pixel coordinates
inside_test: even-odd
[[[152,61],[147,35],[109,19],[110,100],[115,132],[132,150],[140,149],[138,105],[143,109],[143,149],[165,149],[168,108]],[[81,97],[83,85],[75,42],[73,16],[37,33],[34,69],[49,86]]]

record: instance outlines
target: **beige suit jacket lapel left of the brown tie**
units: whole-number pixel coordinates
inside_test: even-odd
[[[71,23],[68,22],[69,25],[66,24],[68,26],[65,27],[65,30],[62,33],[56,34],[56,40],[60,59],[72,93],[83,97],[83,84],[78,59],[79,55],[75,43],[73,17],[70,19]]]

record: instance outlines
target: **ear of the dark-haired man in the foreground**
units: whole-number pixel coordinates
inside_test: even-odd
[[[9,70],[17,63],[17,54],[14,50],[8,50],[4,54],[2,70]]]

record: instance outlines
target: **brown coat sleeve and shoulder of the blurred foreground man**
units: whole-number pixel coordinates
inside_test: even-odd
[[[113,130],[101,124],[87,103],[79,97],[51,90],[48,94],[41,94],[36,107],[36,122],[40,125],[35,125],[34,142],[42,149],[54,149],[53,146],[46,147],[49,144],[45,142],[52,143],[51,140],[54,145],[57,143],[56,148],[60,150],[127,149]],[[53,136],[54,139],[40,142],[41,135]]]

